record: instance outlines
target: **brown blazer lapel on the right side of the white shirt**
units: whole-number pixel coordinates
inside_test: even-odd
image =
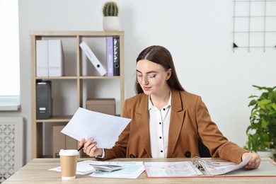
[[[182,106],[183,103],[180,97],[180,92],[172,90],[171,97],[171,120],[168,130],[168,158],[173,156],[173,152],[176,149],[176,143],[183,127],[185,117],[185,110]]]

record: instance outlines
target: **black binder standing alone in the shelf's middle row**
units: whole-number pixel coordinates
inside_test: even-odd
[[[38,120],[52,117],[51,81],[38,81],[36,84],[36,117]]]

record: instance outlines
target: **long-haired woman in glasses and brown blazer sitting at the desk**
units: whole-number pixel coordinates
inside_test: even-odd
[[[137,57],[134,74],[137,95],[125,100],[122,117],[132,119],[112,149],[97,148],[94,139],[82,139],[84,152],[99,159],[192,158],[200,156],[198,139],[212,157],[240,163],[248,155],[229,142],[212,122],[200,96],[188,93],[176,75],[171,53],[150,46]],[[260,156],[253,153],[245,168],[258,168]]]

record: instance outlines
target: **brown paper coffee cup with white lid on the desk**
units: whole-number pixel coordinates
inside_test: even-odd
[[[62,180],[73,180],[76,178],[76,163],[78,155],[79,151],[76,149],[61,149],[59,151]]]

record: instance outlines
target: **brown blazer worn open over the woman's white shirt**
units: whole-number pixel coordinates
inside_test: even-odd
[[[105,159],[151,157],[148,100],[144,93],[125,100],[122,117],[132,120],[115,146],[105,149]],[[212,157],[240,163],[241,155],[246,152],[222,135],[200,96],[172,90],[167,157],[200,156],[197,136],[208,147]]]

